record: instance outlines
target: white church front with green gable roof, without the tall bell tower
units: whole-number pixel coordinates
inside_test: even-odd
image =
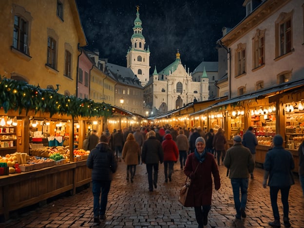
[[[177,53],[176,60],[159,73],[155,67],[144,87],[146,108],[156,109],[160,114],[181,108],[190,102],[208,100],[209,79],[204,73],[199,81],[192,81],[191,74],[183,67],[180,54]]]

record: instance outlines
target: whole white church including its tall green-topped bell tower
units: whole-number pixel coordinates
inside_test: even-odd
[[[142,35],[141,20],[137,8],[134,20],[132,47],[127,52],[127,68],[141,81],[144,87],[144,110],[149,115],[166,113],[181,108],[188,103],[208,100],[209,78],[206,72],[199,80],[193,80],[191,74],[182,65],[180,54],[165,69],[157,73],[156,67],[149,77],[150,50],[145,49],[145,38]]]

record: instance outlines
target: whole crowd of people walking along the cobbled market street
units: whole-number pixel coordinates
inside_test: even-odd
[[[234,136],[233,146],[229,149],[222,128],[209,129],[207,132],[202,128],[186,129],[180,126],[130,127],[124,131],[114,129],[112,133],[106,130],[101,135],[99,143],[97,143],[96,137],[95,132],[89,137],[90,146],[88,148],[91,149],[91,152],[87,160],[87,166],[93,169],[95,223],[99,223],[99,219],[105,219],[112,173],[116,171],[118,162],[123,161],[127,165],[126,180],[131,180],[131,183],[134,180],[136,166],[145,164],[149,191],[153,191],[157,188],[159,165],[164,164],[165,182],[168,180],[171,182],[173,166],[178,159],[181,170],[191,179],[190,205],[194,207],[199,228],[208,224],[213,189],[211,175],[214,189],[219,190],[221,187],[218,171],[220,165],[224,165],[228,169],[227,176],[231,180],[236,209],[235,218],[246,218],[248,182],[249,177],[254,179],[255,148],[258,144],[253,127],[249,127],[243,137]],[[95,145],[92,146],[92,143]],[[294,184],[293,157],[283,148],[281,135],[273,138],[270,149],[266,154],[263,182],[263,187],[266,188],[268,185],[270,188],[270,201],[274,216],[274,221],[269,222],[269,225],[280,227],[277,197],[278,191],[281,191],[284,206],[283,222],[285,227],[290,227],[288,192],[290,186]],[[304,143],[299,148],[299,158],[299,177],[304,192]],[[98,176],[97,173],[100,175]]]

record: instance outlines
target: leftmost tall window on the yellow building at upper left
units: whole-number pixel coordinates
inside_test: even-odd
[[[15,15],[13,47],[18,49],[20,52],[23,52],[24,54],[28,53],[27,24],[28,23],[25,19]]]

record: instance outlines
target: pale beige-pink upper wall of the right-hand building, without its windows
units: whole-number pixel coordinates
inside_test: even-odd
[[[275,2],[268,0],[267,3]],[[282,3],[287,1],[282,1]],[[280,4],[278,2],[277,4]],[[265,4],[261,6],[264,7]],[[281,4],[282,5],[282,4]],[[256,82],[263,81],[264,88],[270,88],[272,85],[278,84],[277,76],[283,72],[291,72],[290,80],[295,80],[304,75],[304,9],[302,0],[291,0],[278,10],[271,11],[265,20],[255,24],[240,38],[235,39],[230,47],[231,50],[231,97],[238,95],[238,88],[245,86],[246,93],[256,91]],[[260,12],[260,11],[258,11]],[[275,21],[282,17],[282,13],[292,14],[292,51],[282,57],[275,54],[276,49],[276,30]],[[254,23],[254,22],[253,22]],[[265,64],[259,68],[253,69],[252,55],[252,38],[255,36],[257,29],[265,30]],[[225,38],[224,38],[225,39]],[[237,76],[236,73],[236,53],[238,44],[246,44],[246,73]]]

